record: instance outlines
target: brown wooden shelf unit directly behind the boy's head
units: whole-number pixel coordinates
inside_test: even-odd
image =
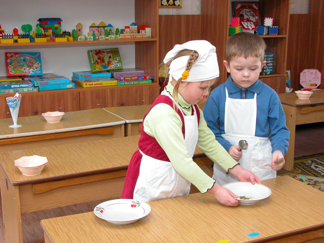
[[[267,45],[276,49],[275,73],[260,75],[260,80],[277,93],[285,93],[290,0],[260,0],[259,8],[262,22],[264,17],[273,17],[273,25],[279,26],[278,35],[260,35]],[[201,0],[201,38],[216,46],[220,71],[218,84],[227,79],[222,61],[225,60],[225,44],[229,37],[230,11],[230,0]]]

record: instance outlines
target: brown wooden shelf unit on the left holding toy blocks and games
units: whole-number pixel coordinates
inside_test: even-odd
[[[159,96],[158,51],[159,51],[159,2],[157,0],[134,0],[135,22],[152,27],[151,39],[126,39],[104,41],[72,41],[44,43],[12,43],[0,44],[0,49],[36,48],[39,46],[78,47],[80,45],[96,46],[103,43],[135,42],[135,67],[153,73],[152,84],[127,86],[102,86],[83,88],[75,84],[74,89],[39,91],[21,93],[19,117],[37,116],[48,111],[73,112],[103,107],[149,105]],[[86,54],[85,54],[86,55]],[[54,57],[55,58],[55,57]],[[6,97],[0,95],[0,119],[11,118]]]

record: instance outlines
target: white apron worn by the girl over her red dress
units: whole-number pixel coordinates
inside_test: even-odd
[[[168,96],[173,101],[169,94]],[[191,109],[194,110],[193,116],[185,116],[181,109],[180,111],[184,119],[184,142],[188,155],[192,157],[198,142],[198,121],[194,106]],[[140,152],[143,157],[133,195],[135,200],[149,202],[189,194],[190,182],[179,175],[170,162]]]

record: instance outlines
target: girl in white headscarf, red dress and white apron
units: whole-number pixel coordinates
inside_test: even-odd
[[[236,195],[217,185],[192,160],[198,145],[240,181],[260,183],[215,140],[196,105],[219,76],[216,48],[204,40],[175,45],[164,63],[169,66],[169,83],[144,116],[140,149],[130,161],[122,198],[149,202],[187,195],[193,183],[222,204],[239,205]]]

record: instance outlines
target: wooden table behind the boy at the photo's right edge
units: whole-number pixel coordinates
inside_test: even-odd
[[[306,100],[299,99],[295,93],[279,94],[286,115],[286,125],[290,130],[289,147],[285,155],[284,169],[286,170],[294,169],[296,125],[324,122],[324,90],[313,92],[310,99]]]

